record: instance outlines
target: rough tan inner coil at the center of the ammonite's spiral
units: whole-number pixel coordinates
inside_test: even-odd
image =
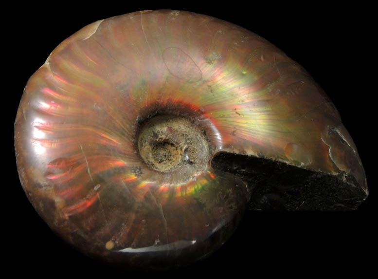
[[[183,180],[206,168],[209,144],[189,120],[170,115],[150,119],[138,139],[138,149],[151,168],[169,172],[180,168]]]

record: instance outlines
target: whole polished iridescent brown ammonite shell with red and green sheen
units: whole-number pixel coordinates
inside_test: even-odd
[[[54,232],[126,267],[205,258],[249,201],[338,210],[368,193],[339,113],[301,66],[182,11],[99,20],[62,42],[25,87],[15,147]]]

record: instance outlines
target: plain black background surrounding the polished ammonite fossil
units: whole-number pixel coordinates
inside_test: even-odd
[[[162,272],[161,275],[219,276],[233,272],[241,276],[320,273],[366,274],[377,262],[375,223],[377,217],[372,157],[376,117],[375,80],[368,77],[374,64],[370,23],[365,16],[372,7],[335,6],[308,3],[305,6],[245,6],[235,3],[194,5],[132,4],[101,6],[50,3],[9,9],[8,81],[12,80],[12,107],[7,106],[7,124],[13,135],[19,99],[28,78],[51,51],[85,25],[111,16],[146,9],[179,9],[230,21],[268,39],[301,64],[329,95],[351,134],[365,167],[370,196],[356,212],[340,213],[256,213],[247,212],[233,237],[207,260],[190,267]],[[7,35],[8,36],[8,35]],[[4,37],[4,36],[3,36]],[[9,82],[8,82],[9,83]],[[13,137],[11,138],[13,146]],[[15,275],[41,277],[129,276],[131,272],[95,262],[63,243],[39,218],[18,180],[13,147],[9,166],[12,178],[9,205],[4,215],[11,221],[2,231],[9,234],[5,255]],[[4,185],[5,186],[5,185]],[[8,203],[5,203],[8,204]],[[8,248],[9,247],[9,248]],[[137,275],[137,274],[136,274]],[[152,275],[152,274],[151,274]]]

